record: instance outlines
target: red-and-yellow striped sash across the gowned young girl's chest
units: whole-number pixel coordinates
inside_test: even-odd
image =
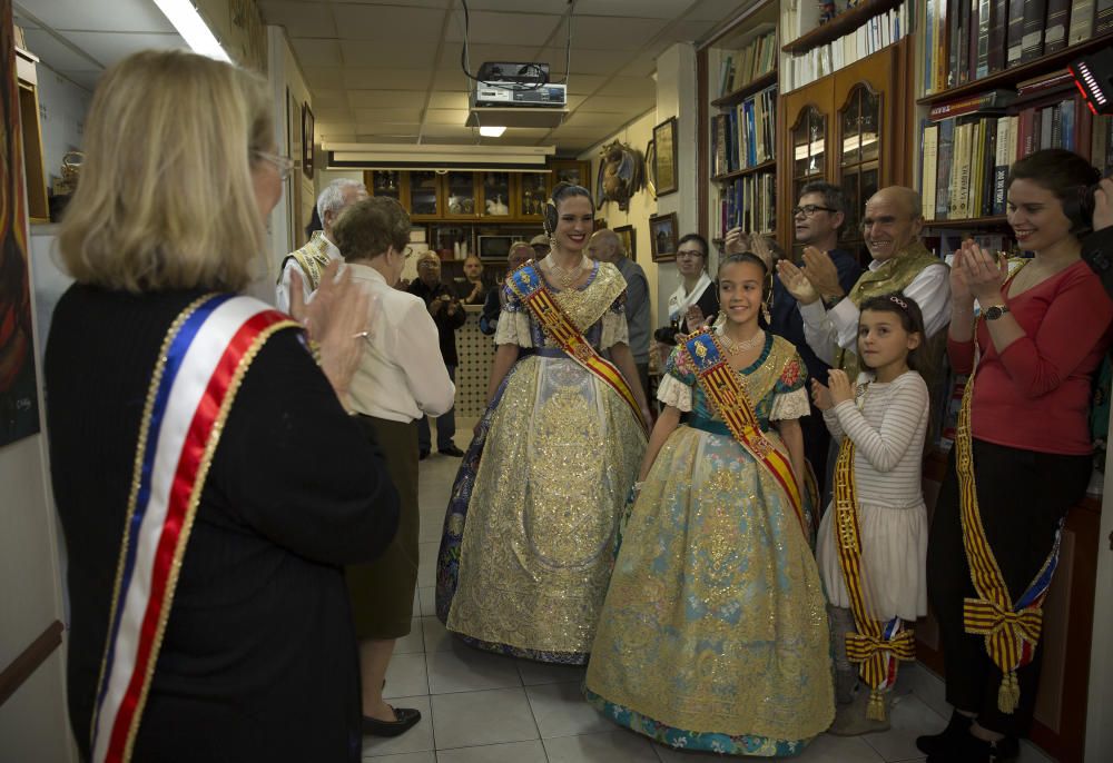
[[[792,472],[792,465],[761,432],[761,425],[754,413],[754,406],[746,395],[738,371],[727,363],[713,330],[705,326],[689,336],[684,339],[684,350],[696,365],[696,378],[703,394],[715,405],[738,444],[768,469],[785,492],[800,523],[805,539],[809,539],[808,522],[804,515],[804,496]]]

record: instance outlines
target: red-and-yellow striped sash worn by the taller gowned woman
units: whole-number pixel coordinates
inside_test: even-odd
[[[627,384],[622,373],[597,353],[591,343],[583,338],[583,334],[575,327],[569,315],[553,299],[552,293],[545,286],[536,266],[531,261],[518,268],[510,276],[510,286],[533,313],[533,317],[541,324],[545,336],[552,339],[570,358],[618,393],[644,430],[646,420],[641,417],[638,400],[630,390],[630,385]]]

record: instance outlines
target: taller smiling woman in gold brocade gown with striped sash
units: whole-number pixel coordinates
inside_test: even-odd
[[[592,211],[585,189],[558,184],[552,250],[506,279],[489,407],[453,486],[436,592],[437,616],[466,643],[577,665],[650,419],[626,280],[585,254]]]

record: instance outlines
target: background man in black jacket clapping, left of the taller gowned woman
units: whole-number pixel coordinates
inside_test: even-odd
[[[441,357],[444,358],[444,365],[449,369],[449,378],[455,383],[456,366],[460,363],[456,355],[456,329],[467,320],[467,314],[452,289],[441,283],[441,258],[435,252],[426,251],[417,260],[417,279],[406,290],[425,300],[425,307],[436,324]],[[455,410],[453,406],[447,413],[436,417],[436,449],[445,456],[460,458],[464,452],[457,448],[452,439],[456,435]],[[429,458],[431,450],[429,418],[422,416],[417,419],[418,459]]]

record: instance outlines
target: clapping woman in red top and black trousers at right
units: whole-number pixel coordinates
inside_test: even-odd
[[[947,350],[957,373],[974,373],[974,389],[969,435],[952,450],[928,542],[928,594],[939,620],[947,702],[955,707],[946,731],[917,740],[929,763],[1011,760],[1032,721],[1038,642],[1018,655],[998,650],[998,663],[1015,667],[1003,673],[985,636],[966,630],[964,602],[994,596],[986,593],[993,589],[988,578],[979,578],[977,591],[972,582],[967,546],[985,546],[973,542],[983,536],[976,522],[964,527],[961,496],[967,488],[974,506],[976,495],[999,568],[991,578],[998,592],[1007,588],[1007,608],[1037,607],[1036,578],[1090,478],[1091,376],[1113,338],[1113,303],[1080,257],[1090,222],[1077,200],[1097,179],[1071,151],[1018,160],[1007,181],[1008,224],[1021,249],[1035,256],[1009,275],[1007,262],[967,241],[952,266]],[[961,468],[971,458],[972,478],[964,479],[956,460]]]

